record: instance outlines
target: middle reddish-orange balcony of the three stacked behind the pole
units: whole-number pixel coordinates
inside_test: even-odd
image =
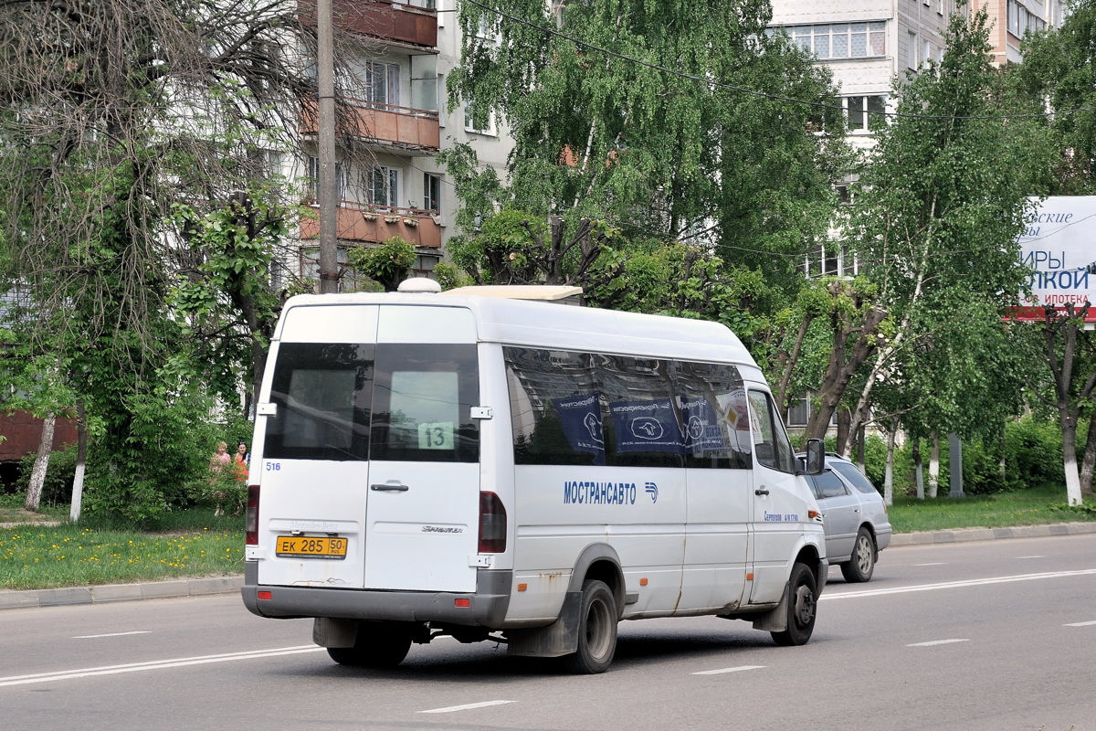
[[[340,119],[335,134],[375,140],[386,147],[415,153],[436,153],[441,150],[437,112],[379,102],[347,101],[353,106],[353,117],[350,121]],[[319,129],[317,103],[306,100],[301,106],[300,134],[315,136]],[[347,129],[347,126],[351,128]]]

